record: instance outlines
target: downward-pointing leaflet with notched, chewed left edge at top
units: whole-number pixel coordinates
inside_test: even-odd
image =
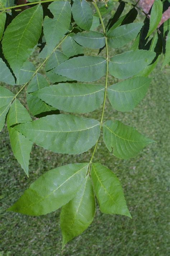
[[[54,16],[53,19],[46,16],[43,23],[43,31],[49,54],[69,31],[71,5],[68,1],[55,1],[48,6],[48,9]]]

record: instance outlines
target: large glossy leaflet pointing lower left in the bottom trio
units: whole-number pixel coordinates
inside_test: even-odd
[[[56,211],[75,196],[87,171],[88,163],[52,169],[34,181],[8,210],[34,216]]]

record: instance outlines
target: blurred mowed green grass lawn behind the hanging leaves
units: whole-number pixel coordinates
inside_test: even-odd
[[[124,216],[105,215],[97,206],[90,227],[67,244],[62,252],[60,210],[39,217],[5,210],[44,172],[68,163],[87,162],[92,150],[81,155],[61,155],[33,145],[27,178],[11,152],[6,127],[3,129],[0,133],[0,255],[169,255],[169,71],[166,67],[161,72],[161,63],[157,65],[150,75],[153,79],[146,97],[133,111],[115,111],[108,100],[105,108],[104,121],[121,120],[157,141],[145,147],[136,158],[121,160],[109,153],[102,133],[100,136],[94,162],[106,165],[121,180],[132,220]],[[104,79],[101,82],[104,83]],[[109,85],[115,82],[109,76]],[[19,87],[13,87],[13,91],[18,90]],[[24,103],[25,93],[19,99]],[[99,120],[101,109],[85,116]]]

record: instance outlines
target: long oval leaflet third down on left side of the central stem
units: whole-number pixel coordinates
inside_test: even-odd
[[[39,90],[38,97],[57,109],[86,113],[94,111],[101,105],[104,87],[100,84],[57,84]]]

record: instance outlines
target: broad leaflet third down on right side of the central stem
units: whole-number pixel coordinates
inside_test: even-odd
[[[145,97],[151,78],[135,77],[108,87],[108,97],[113,108],[131,111]]]

